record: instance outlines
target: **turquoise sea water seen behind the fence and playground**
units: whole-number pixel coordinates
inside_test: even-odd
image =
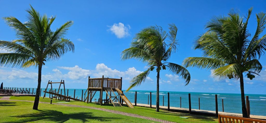
[[[25,88],[24,88],[25,89]],[[31,88],[32,90],[32,88]],[[36,89],[34,89],[36,90]],[[49,90],[49,89],[48,89]],[[74,97],[74,90],[76,90],[75,97],[78,99],[82,95],[82,89],[68,89],[68,95]],[[41,96],[44,95],[44,88],[42,88]],[[61,90],[60,90],[61,91]],[[66,95],[67,95],[67,89]],[[86,89],[83,89],[85,93]],[[124,90],[123,90],[124,91]],[[137,103],[148,104],[148,97],[152,93],[152,105],[156,105],[156,91],[137,91]],[[192,109],[199,109],[200,98],[200,110],[212,110],[215,111],[215,95],[218,97],[218,111],[222,112],[222,101],[224,105],[224,112],[239,113],[242,114],[241,97],[240,94],[231,93],[200,93],[200,92],[169,92],[169,100],[171,107],[189,108],[188,93],[191,94],[191,107]],[[62,92],[64,94],[64,91]],[[127,98],[134,104],[135,91],[124,92]],[[266,95],[247,94],[250,101],[250,114],[266,116]],[[49,97],[49,95],[46,95]],[[106,97],[106,93],[103,93],[103,98]],[[84,98],[84,96],[83,96]],[[99,92],[96,92],[94,99],[99,98]],[[149,97],[150,98],[150,97]],[[94,101],[94,100],[93,100]],[[150,101],[150,100],[149,100]],[[160,105],[168,105],[168,92],[160,91]]]

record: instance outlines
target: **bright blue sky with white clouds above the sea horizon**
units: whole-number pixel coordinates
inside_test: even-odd
[[[74,21],[66,38],[75,44],[75,52],[65,54],[60,60],[48,62],[42,71],[44,88],[48,80],[64,79],[66,88],[82,88],[91,77],[123,77],[123,89],[130,79],[147,69],[146,64],[136,60],[122,61],[120,52],[130,46],[134,34],[151,25],[168,29],[169,23],[178,28],[180,46],[170,62],[181,64],[186,57],[201,56],[193,50],[195,38],[205,32],[204,25],[214,15],[226,15],[231,9],[246,15],[254,7],[248,24],[251,35],[256,29],[256,13],[266,12],[266,1],[0,1],[0,17],[13,16],[26,21],[26,9],[31,4],[40,13],[56,16],[52,30],[68,20]],[[16,39],[15,32],[0,20],[0,40]],[[263,32],[265,34],[266,31]],[[1,51],[0,52],[5,52]],[[265,94],[266,55],[260,59],[264,66],[260,77],[245,79],[245,92]],[[240,93],[238,81],[217,80],[206,69],[188,68],[191,81],[184,80],[167,70],[160,74],[161,91]],[[0,68],[0,81],[5,87],[37,87],[35,68]],[[151,72],[141,86],[132,90],[156,90],[156,73]]]

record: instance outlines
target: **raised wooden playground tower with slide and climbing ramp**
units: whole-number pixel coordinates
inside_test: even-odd
[[[104,101],[104,102],[111,102],[114,105],[114,107],[119,107],[122,106],[121,102],[123,100],[128,107],[134,108],[131,102],[123,94],[121,89],[122,89],[122,77],[120,79],[114,79],[114,78],[104,78],[104,76],[102,76],[102,78],[90,78],[89,76],[88,89],[86,90],[87,96],[84,102],[85,101],[87,101],[87,103],[92,102],[95,93],[99,91],[100,105],[102,105],[102,102]],[[106,99],[103,99],[104,92],[106,92]],[[117,92],[118,95],[116,95],[114,92]],[[120,96],[120,99],[118,99],[118,96]]]

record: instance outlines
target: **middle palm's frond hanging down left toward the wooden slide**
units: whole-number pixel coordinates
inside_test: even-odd
[[[147,69],[146,71],[140,73],[139,75],[135,76],[131,81],[130,81],[130,86],[126,90],[128,92],[131,88],[139,86],[142,82],[145,81],[146,77],[149,75],[150,68]]]

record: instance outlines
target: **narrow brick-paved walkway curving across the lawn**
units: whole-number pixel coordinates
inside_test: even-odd
[[[1,100],[9,100],[9,98],[5,98],[2,97]],[[9,100],[9,101],[25,101],[25,102],[34,102],[34,101],[27,101],[27,100]],[[46,102],[39,102],[39,103],[43,103],[43,104],[50,104],[50,103],[46,103]],[[176,123],[176,122],[172,122],[172,121],[167,121],[167,120],[161,120],[161,119],[157,119],[157,118],[152,118],[152,117],[146,117],[146,116],[141,116],[138,114],[132,114],[132,113],[126,113],[126,112],[121,112],[121,111],[116,111],[116,110],[110,110],[110,109],[103,109],[103,108],[96,108],[96,107],[90,107],[90,106],[80,106],[80,105],[71,105],[71,104],[59,104],[59,103],[53,103],[55,105],[63,105],[63,106],[71,106],[71,107],[80,107],[80,108],[90,108],[90,109],[95,109],[95,110],[102,110],[105,112],[111,112],[111,113],[115,113],[115,114],[122,114],[124,116],[130,116],[130,117],[137,117],[137,118],[142,118],[142,119],[146,119],[146,120],[151,120],[151,121],[156,121],[156,122],[162,122],[162,123]]]

